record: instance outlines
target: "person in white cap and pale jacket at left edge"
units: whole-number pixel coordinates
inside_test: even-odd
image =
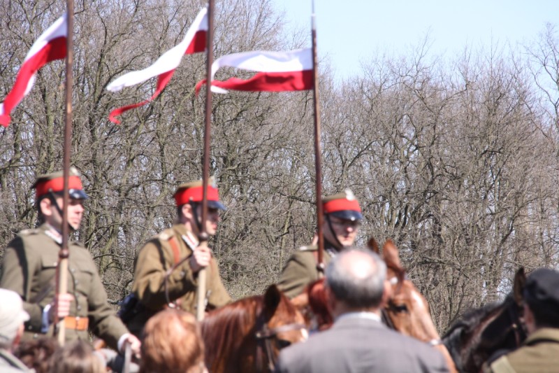
[[[20,344],[23,323],[28,320],[29,314],[23,310],[20,295],[0,289],[0,372],[34,372],[12,353]]]

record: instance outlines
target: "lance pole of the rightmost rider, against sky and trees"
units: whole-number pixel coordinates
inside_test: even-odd
[[[318,69],[318,56],[317,56],[317,23],[314,15],[314,1],[312,1],[312,71],[314,74],[314,89],[312,90],[312,101],[314,104],[314,170],[317,178],[317,235],[318,235],[318,260],[317,269],[319,276],[324,276],[324,234],[322,233],[322,223],[324,220],[324,213],[322,208],[322,151],[320,146],[320,104],[319,104],[319,69]]]

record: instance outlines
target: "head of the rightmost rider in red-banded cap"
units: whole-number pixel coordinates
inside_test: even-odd
[[[349,248],[355,242],[361,227],[361,207],[351,190],[330,195],[322,199],[324,238],[338,251]]]

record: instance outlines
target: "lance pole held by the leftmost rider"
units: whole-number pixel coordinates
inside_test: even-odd
[[[66,339],[66,328],[64,318],[59,320],[58,311],[58,295],[66,294],[68,291],[68,203],[70,194],[68,190],[68,180],[70,178],[70,152],[72,146],[72,64],[73,64],[73,24],[74,24],[74,4],[73,0],[66,1],[66,21],[68,31],[66,32],[66,120],[64,127],[64,192],[62,195],[62,246],[58,255],[57,266],[57,297],[55,297],[55,332],[60,346],[64,346]]]

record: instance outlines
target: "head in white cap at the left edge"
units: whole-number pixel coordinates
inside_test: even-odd
[[[29,314],[23,309],[20,295],[0,289],[0,349],[13,351],[20,343]]]

